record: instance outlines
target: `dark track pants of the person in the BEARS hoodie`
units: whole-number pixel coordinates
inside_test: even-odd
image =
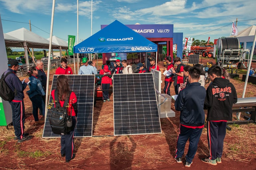
[[[207,138],[210,150],[209,159],[214,160],[222,156],[226,127],[227,122],[207,121]]]

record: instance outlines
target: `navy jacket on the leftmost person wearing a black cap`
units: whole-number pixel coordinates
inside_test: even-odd
[[[9,85],[12,91],[14,91],[14,89],[17,90],[17,93],[15,94],[13,101],[23,101],[23,90],[27,87],[27,84],[25,82],[22,83],[20,81],[20,79],[16,76],[16,71],[12,70],[11,68],[8,68],[7,71],[4,72],[4,75],[6,75],[7,72],[13,72],[13,74],[9,74],[5,78],[7,85]]]

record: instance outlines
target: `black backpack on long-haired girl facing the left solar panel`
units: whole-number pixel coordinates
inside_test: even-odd
[[[71,92],[69,93],[70,96]],[[49,116],[50,125],[54,134],[66,135],[72,130],[71,127],[67,126],[67,121],[72,122],[71,116],[67,114],[67,104],[69,99],[64,101],[63,107],[61,107],[58,90],[55,90],[55,108],[52,111],[52,115]]]

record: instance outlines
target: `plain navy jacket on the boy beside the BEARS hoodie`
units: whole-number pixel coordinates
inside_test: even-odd
[[[180,123],[186,126],[204,125],[203,105],[206,90],[200,83],[191,83],[182,89],[175,101],[175,109],[181,111]]]

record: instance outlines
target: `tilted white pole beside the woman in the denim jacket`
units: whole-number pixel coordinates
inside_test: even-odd
[[[53,8],[52,8],[52,21],[51,21],[49,54],[52,51],[54,8],[55,8],[55,0],[53,0]],[[50,77],[50,64],[51,64],[51,56],[48,57],[48,65],[47,65],[47,83],[46,83],[46,96],[45,96],[46,97],[45,98],[45,115],[47,113],[47,105],[48,105],[48,91],[49,91],[48,88],[49,88],[49,77]],[[46,119],[46,116],[45,116],[45,119]]]

